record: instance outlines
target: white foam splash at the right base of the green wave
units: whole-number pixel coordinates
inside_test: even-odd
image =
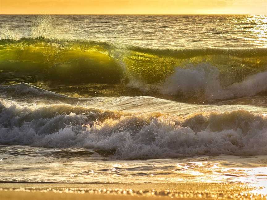
[[[202,94],[209,99],[228,99],[253,96],[267,90],[267,72],[247,77],[242,82],[222,87],[217,68],[209,64],[199,64],[186,69],[176,68],[162,86],[163,94]],[[223,80],[222,80],[223,81]]]

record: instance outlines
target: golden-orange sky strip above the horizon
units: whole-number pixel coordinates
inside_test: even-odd
[[[0,14],[267,15],[267,0],[0,0]]]

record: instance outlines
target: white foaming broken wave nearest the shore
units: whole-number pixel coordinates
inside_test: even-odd
[[[1,99],[0,124],[0,144],[93,148],[116,159],[267,155],[267,119],[245,110],[183,118]]]

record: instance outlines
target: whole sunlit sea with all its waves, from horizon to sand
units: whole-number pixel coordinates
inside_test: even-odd
[[[266,116],[267,16],[0,15],[0,182],[267,195]]]

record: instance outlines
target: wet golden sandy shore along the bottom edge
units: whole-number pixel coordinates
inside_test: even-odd
[[[1,200],[43,199],[267,199],[263,186],[240,183],[196,184],[40,184],[1,183]]]

